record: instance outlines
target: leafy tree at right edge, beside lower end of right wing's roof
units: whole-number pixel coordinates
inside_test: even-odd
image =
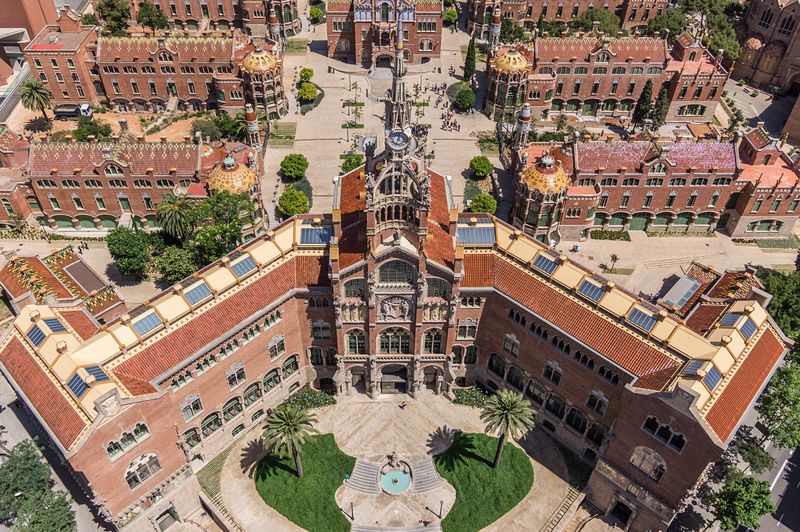
[[[756,412],[777,447],[800,446],[800,365],[788,362],[778,368],[756,402]]]

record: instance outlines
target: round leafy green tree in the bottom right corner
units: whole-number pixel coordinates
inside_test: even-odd
[[[724,530],[757,529],[761,516],[775,511],[769,483],[734,471],[713,496],[714,517]]]

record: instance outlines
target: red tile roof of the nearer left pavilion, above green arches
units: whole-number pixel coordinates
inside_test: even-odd
[[[198,170],[194,144],[48,142],[34,144],[31,148],[30,174],[34,178],[45,177],[55,170],[62,176],[71,176],[79,168],[82,174],[93,175],[95,168],[106,160],[130,167],[134,175],[144,175],[149,168],[155,175],[168,175],[170,169],[175,168],[179,176],[191,176]]]

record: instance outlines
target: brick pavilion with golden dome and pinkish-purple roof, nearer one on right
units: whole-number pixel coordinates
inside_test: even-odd
[[[518,122],[514,140],[513,222],[542,242],[577,240],[593,228],[776,238],[797,221],[797,164],[760,127],[736,142],[576,141],[554,148],[528,144],[526,122]]]

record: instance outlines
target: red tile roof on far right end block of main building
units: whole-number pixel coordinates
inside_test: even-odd
[[[717,398],[706,421],[722,441],[728,441],[783,354],[783,343],[768,328]]]

